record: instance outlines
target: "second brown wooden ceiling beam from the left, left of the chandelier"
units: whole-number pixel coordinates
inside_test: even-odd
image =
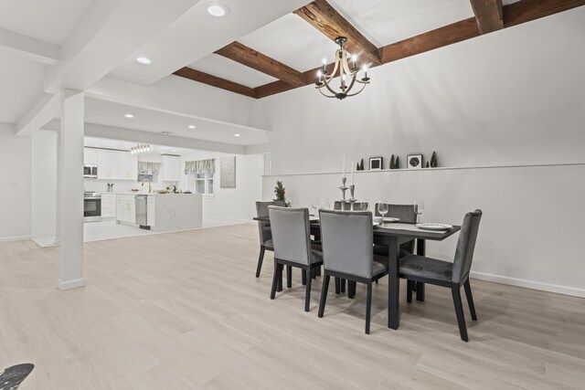
[[[216,51],[216,54],[239,62],[251,69],[259,70],[293,87],[301,87],[305,84],[303,73],[300,71],[288,67],[276,59],[265,56],[261,52],[239,42],[233,42],[226,47],[220,48]]]

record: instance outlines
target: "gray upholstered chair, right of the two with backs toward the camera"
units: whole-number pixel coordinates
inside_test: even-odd
[[[323,246],[324,278],[319,303],[323,317],[329,279],[347,279],[367,285],[366,333],[372,307],[372,282],[388,275],[388,258],[374,255],[372,213],[369,211],[319,212]]]

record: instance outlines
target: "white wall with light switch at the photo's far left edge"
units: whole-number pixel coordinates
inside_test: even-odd
[[[0,241],[30,237],[32,231],[31,140],[0,125]]]

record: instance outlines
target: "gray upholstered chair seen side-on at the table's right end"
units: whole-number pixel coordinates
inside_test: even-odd
[[[463,218],[463,225],[459,232],[459,240],[457,241],[453,262],[418,255],[409,255],[399,260],[399,275],[401,278],[408,280],[407,301],[409,303],[412,301],[412,285],[416,281],[451,289],[457,323],[459,324],[459,333],[464,342],[467,342],[469,338],[467,337],[467,327],[465,326],[465,316],[463,315],[461,287],[463,285],[465,289],[472,320],[477,321],[475,305],[473,304],[472,287],[469,283],[469,271],[472,268],[473,250],[475,248],[477,231],[479,230],[479,222],[481,219],[482,210],[479,209],[467,213]]]

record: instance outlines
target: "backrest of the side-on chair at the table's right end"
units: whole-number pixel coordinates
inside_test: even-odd
[[[482,210],[475,210],[465,214],[463,225],[459,232],[459,240],[455,249],[455,258],[453,259],[453,270],[451,281],[460,283],[469,274],[472,268],[473,250],[477,240],[477,231],[479,222],[482,219]]]

